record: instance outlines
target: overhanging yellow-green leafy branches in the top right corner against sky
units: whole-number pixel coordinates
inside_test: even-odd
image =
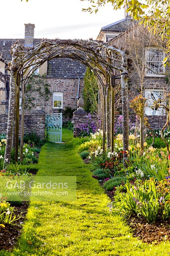
[[[83,0],[81,0],[83,1]],[[168,56],[163,60],[163,65],[169,65],[170,57],[170,0],[146,0],[145,4],[140,0],[86,0],[91,3],[91,7],[83,8],[83,11],[96,13],[98,8],[107,3],[111,3],[114,10],[120,9],[128,4],[127,12],[135,20],[140,20],[140,24],[147,26],[154,35],[161,36],[162,40],[167,39]],[[143,1],[142,1],[143,2]]]

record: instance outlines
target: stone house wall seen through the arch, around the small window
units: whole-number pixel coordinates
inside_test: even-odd
[[[37,83],[32,86],[30,90],[26,93],[26,114],[30,114],[33,110],[35,102],[41,101],[40,107],[45,111],[45,113],[55,114],[58,112],[63,112],[66,107],[72,109],[77,109],[77,93],[79,79],[75,78],[45,78],[44,83],[49,84],[48,89],[48,100],[45,99],[44,95],[44,85],[43,83]],[[82,95],[83,91],[83,79],[80,79],[80,90],[79,97]],[[27,88],[27,87],[26,87]],[[53,108],[53,92],[63,92],[63,109]],[[65,117],[63,120],[65,121]]]

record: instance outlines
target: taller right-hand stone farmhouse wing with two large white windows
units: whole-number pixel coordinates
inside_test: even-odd
[[[152,128],[162,128],[166,120],[165,110],[153,107],[153,102],[163,99],[165,92],[170,92],[170,68],[162,65],[166,42],[148,33],[147,29],[138,25],[127,12],[125,19],[101,28],[97,40],[122,47],[124,51],[129,52],[129,60],[132,60],[129,63],[129,103],[142,90],[143,97],[147,99],[145,116],[148,117]],[[131,109],[130,113],[133,113]]]

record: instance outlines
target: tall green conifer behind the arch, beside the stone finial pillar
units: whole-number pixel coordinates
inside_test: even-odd
[[[98,111],[98,83],[95,74],[87,68],[84,76],[84,110],[88,113],[97,113]]]

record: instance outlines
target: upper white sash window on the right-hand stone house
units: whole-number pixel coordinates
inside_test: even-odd
[[[165,58],[165,53],[159,49],[148,49],[146,51],[146,75],[160,76],[165,72],[165,67],[162,61]]]

